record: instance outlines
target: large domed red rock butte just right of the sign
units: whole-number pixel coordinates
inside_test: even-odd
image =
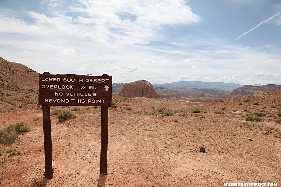
[[[123,97],[160,98],[155,92],[153,85],[147,80],[138,80],[124,84],[123,88],[119,92],[119,95]]]

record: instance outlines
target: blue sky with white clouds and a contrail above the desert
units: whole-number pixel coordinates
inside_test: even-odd
[[[281,84],[281,1],[0,0],[0,57],[118,83]]]

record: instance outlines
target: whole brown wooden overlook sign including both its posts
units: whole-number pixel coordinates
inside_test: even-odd
[[[112,76],[39,75],[39,105],[43,109],[45,177],[53,177],[50,106],[101,106],[100,174],[107,175],[108,107]]]

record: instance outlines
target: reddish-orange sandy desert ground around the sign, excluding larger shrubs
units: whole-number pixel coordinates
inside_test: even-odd
[[[274,121],[280,91],[201,103],[119,96],[113,102],[108,175],[99,174],[101,108],[79,107],[75,118],[58,122],[57,115],[51,116],[52,179],[44,178],[42,110],[34,103],[33,109],[9,110],[10,104],[0,102],[0,130],[18,122],[30,127],[15,143],[0,145],[0,186],[281,185],[281,127]],[[163,107],[173,115],[161,114]],[[51,106],[51,111],[73,108]],[[264,121],[246,120],[255,112],[265,114]],[[10,149],[16,154],[9,155]]]

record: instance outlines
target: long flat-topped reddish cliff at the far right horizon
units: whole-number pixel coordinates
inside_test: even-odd
[[[279,91],[281,90],[281,85],[279,84],[267,84],[263,86],[251,86],[244,85],[242,87],[234,89],[230,95],[253,95],[261,91]]]

